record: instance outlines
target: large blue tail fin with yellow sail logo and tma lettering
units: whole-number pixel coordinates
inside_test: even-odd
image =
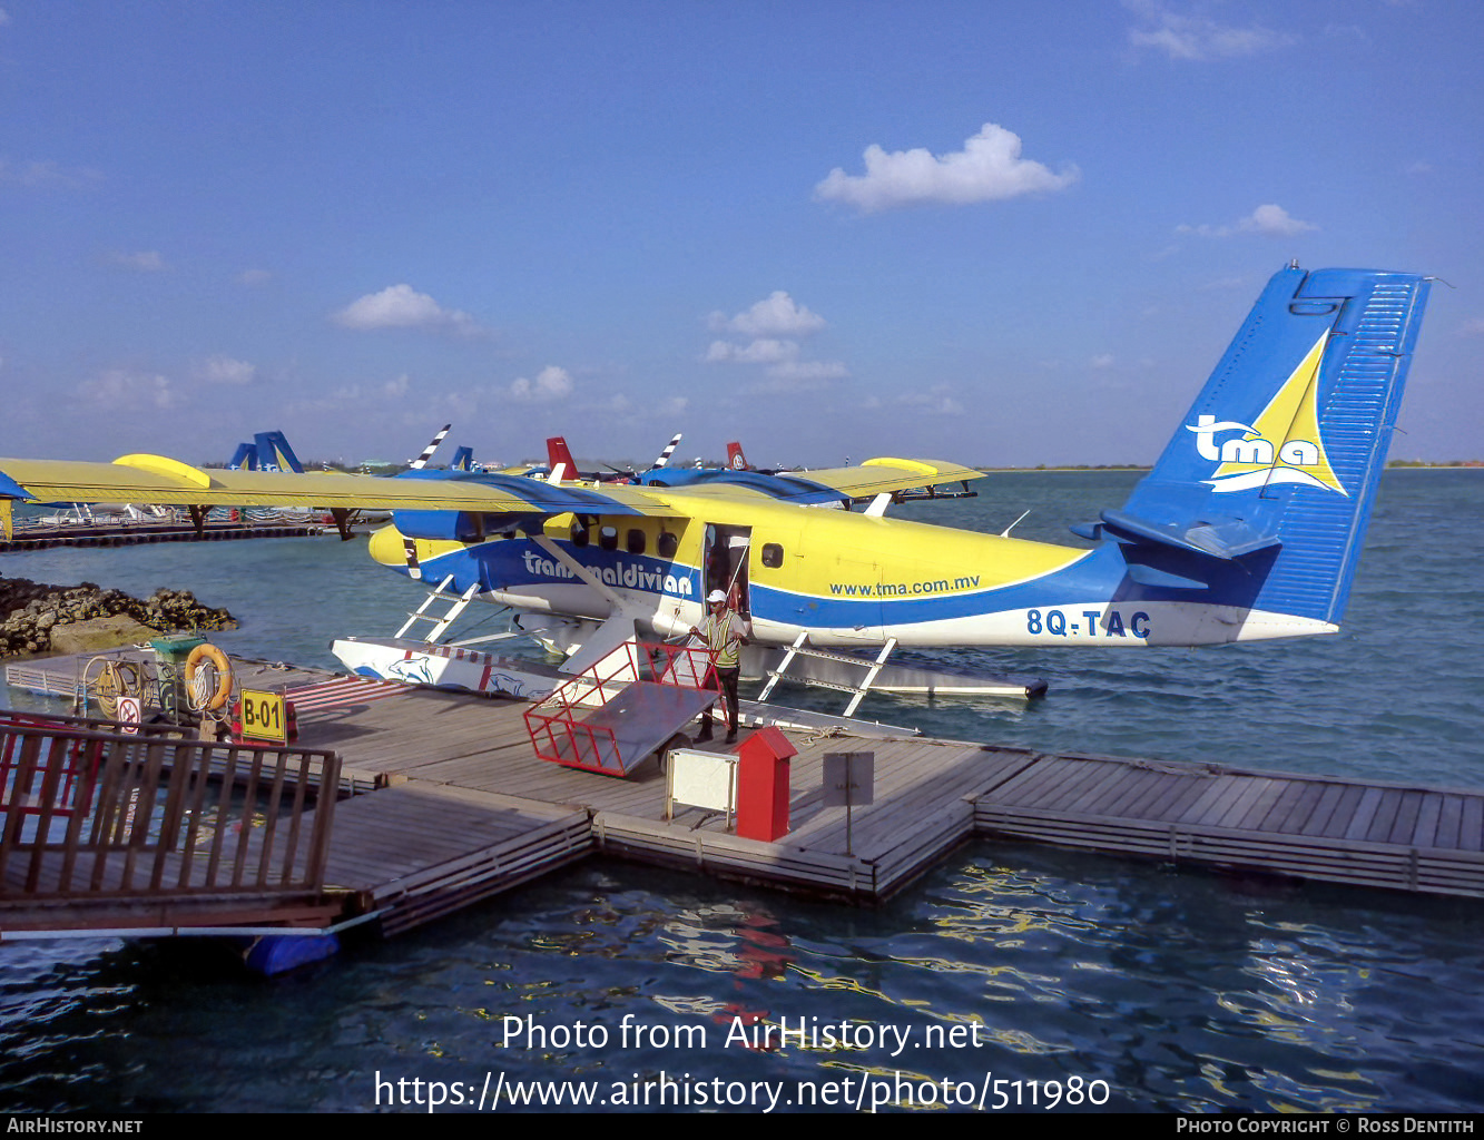
[[[1155,469],[1079,533],[1172,597],[1337,625],[1426,298],[1411,273],[1278,272]]]

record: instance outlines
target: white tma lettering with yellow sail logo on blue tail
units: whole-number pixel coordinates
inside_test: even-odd
[[[1257,423],[1217,420],[1215,416],[1196,416],[1195,425],[1186,425],[1196,433],[1196,451],[1220,466],[1204,482],[1215,491],[1248,491],[1275,482],[1298,482],[1322,491],[1349,493],[1340,485],[1330,457],[1324,453],[1319,438],[1318,379],[1319,361],[1328,334],[1319,337],[1282,387],[1263,408]],[[1217,436],[1241,432],[1238,439]]]

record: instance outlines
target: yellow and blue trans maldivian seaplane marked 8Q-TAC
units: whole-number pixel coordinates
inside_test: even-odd
[[[684,635],[715,589],[755,647],[883,668],[911,647],[1334,634],[1428,288],[1382,270],[1273,275],[1128,502],[1074,528],[1091,545],[889,517],[895,496],[982,476],[935,459],[723,471],[675,487],[427,468],[377,479],[203,471],[153,454],[0,459],[0,496],[392,511],[372,558],[438,583],[435,595],[570,628],[570,672],[635,635]]]

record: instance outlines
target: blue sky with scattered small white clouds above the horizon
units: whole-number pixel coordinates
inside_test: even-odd
[[[1475,0],[0,12],[0,454],[1152,462],[1297,258],[1484,456]]]

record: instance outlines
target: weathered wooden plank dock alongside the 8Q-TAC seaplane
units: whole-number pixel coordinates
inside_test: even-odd
[[[306,693],[298,745],[335,753],[356,793],[335,808],[325,885],[386,932],[604,855],[868,904],[974,837],[1484,897],[1481,791],[791,732],[791,830],[769,843],[695,808],[665,822],[657,760],[620,779],[536,759],[524,702],[237,668],[248,687]],[[71,693],[74,672],[53,659],[9,680]],[[876,757],[874,803],[849,828],[824,793],[824,757],[841,751]]]

